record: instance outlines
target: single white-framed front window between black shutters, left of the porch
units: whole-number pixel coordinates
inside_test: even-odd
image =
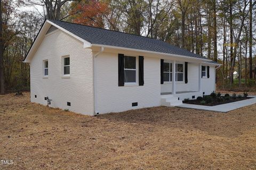
[[[137,57],[124,56],[124,83],[137,82]]]

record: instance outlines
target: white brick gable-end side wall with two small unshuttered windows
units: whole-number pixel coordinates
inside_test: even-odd
[[[61,56],[70,56],[70,78],[62,78]],[[43,60],[49,62],[49,77],[43,78]],[[30,63],[31,102],[46,105],[44,97],[52,99],[51,107],[93,114],[93,61],[91,49],[57,31],[44,38]],[[37,95],[37,98],[35,98]],[[71,106],[67,106],[67,102]]]

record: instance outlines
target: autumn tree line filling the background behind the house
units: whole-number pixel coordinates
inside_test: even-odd
[[[252,0],[2,0],[1,94],[29,89],[29,65],[22,60],[44,19],[160,39],[221,63],[217,77],[223,86],[237,80],[239,87],[253,86],[255,7]]]

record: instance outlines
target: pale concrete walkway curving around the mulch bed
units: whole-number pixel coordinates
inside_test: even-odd
[[[227,103],[227,104],[223,104],[223,105],[216,105],[216,106],[182,104],[182,105],[179,105],[178,107],[194,108],[194,109],[201,109],[201,110],[215,111],[215,112],[229,112],[229,111],[232,111],[237,108],[256,104],[256,97],[254,97],[254,96],[250,96],[250,97],[253,97],[253,98],[236,101],[236,102],[232,102],[232,103]]]

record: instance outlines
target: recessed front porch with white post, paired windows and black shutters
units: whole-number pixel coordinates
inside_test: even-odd
[[[161,95],[202,92],[202,79],[209,78],[206,67],[202,63],[161,60]]]

